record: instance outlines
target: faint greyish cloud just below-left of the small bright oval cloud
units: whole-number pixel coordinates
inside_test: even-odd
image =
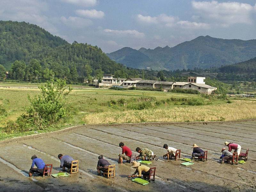
[[[83,19],[80,17],[64,17],[60,18],[62,23],[64,23],[68,27],[75,27],[75,28],[83,28],[89,25],[92,25],[92,21],[90,19]]]

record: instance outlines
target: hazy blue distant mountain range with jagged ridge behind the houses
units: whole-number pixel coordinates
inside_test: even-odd
[[[124,48],[123,48],[124,49]],[[139,68],[152,69],[194,69],[212,68],[242,62],[256,57],[256,40],[218,39],[210,36],[199,36],[175,47],[157,47],[153,50],[140,48],[130,51],[117,50],[107,54],[109,58],[126,66],[137,63]],[[141,62],[137,62],[136,58]]]

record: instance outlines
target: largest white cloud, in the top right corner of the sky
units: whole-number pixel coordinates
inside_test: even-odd
[[[246,3],[217,1],[192,1],[192,7],[202,19],[215,22],[222,26],[236,23],[252,23],[252,13],[255,7]]]

